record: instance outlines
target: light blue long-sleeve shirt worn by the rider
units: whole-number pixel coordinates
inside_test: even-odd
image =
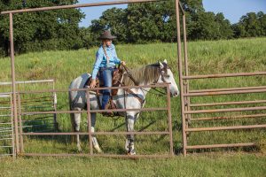
[[[109,63],[107,65],[107,57],[106,54],[109,58]],[[101,45],[98,48],[98,51],[96,53],[96,61],[93,65],[93,71],[92,71],[92,79],[96,79],[98,70],[100,67],[111,67],[116,64],[121,64],[121,60],[117,58],[115,47],[112,44],[111,46],[107,47],[106,46],[106,53],[103,49],[103,46]]]

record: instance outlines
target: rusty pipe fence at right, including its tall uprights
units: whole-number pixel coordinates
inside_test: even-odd
[[[193,118],[195,114],[202,113],[229,113],[229,112],[254,112],[254,111],[265,111],[266,101],[261,100],[248,100],[248,101],[230,101],[223,103],[195,103],[191,104],[191,98],[198,98],[202,96],[226,96],[236,94],[263,94],[266,92],[265,86],[257,87],[242,87],[242,88],[224,88],[224,89],[199,89],[191,90],[189,81],[196,81],[201,79],[219,79],[229,77],[252,77],[252,76],[265,76],[266,72],[254,72],[254,73],[217,73],[217,74],[206,74],[206,75],[189,75],[189,65],[187,56],[186,46],[186,32],[185,32],[185,13],[181,8],[181,14],[177,8],[179,1],[176,1],[176,32],[177,32],[177,57],[178,57],[178,70],[179,70],[179,82],[181,89],[181,117],[182,117],[182,134],[183,134],[183,154],[186,156],[187,150],[199,150],[199,149],[213,149],[213,148],[233,148],[233,147],[247,147],[254,146],[254,142],[245,143],[223,143],[223,144],[205,144],[205,145],[189,145],[188,135],[189,133],[204,132],[204,131],[228,131],[228,130],[240,130],[240,129],[257,129],[266,128],[266,124],[262,125],[245,125],[245,126],[230,126],[230,127],[192,127],[194,122],[209,121],[209,120],[220,120],[220,119],[250,119],[250,118],[266,118],[265,113],[255,113],[247,115],[232,115],[232,116],[219,116],[219,117],[207,117],[207,118]],[[181,27],[180,17],[183,20],[183,34],[184,34],[184,56],[181,52]],[[250,107],[250,104],[256,104]],[[258,105],[260,104],[260,105]],[[209,110],[206,107],[210,106],[236,106],[245,105],[245,107],[238,108],[225,108],[225,109],[214,109]],[[247,106],[248,105],[248,106]],[[195,108],[200,110],[195,110]]]

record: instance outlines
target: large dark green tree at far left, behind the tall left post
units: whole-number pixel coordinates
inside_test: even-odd
[[[76,0],[27,0],[25,5],[27,8],[36,8],[76,3]],[[24,6],[20,0],[0,2],[1,11],[22,8]],[[77,36],[79,35],[78,23],[83,17],[82,12],[76,9],[14,14],[13,34],[16,52],[53,50],[55,48],[66,50],[82,47],[82,42],[77,39]],[[6,43],[8,38],[9,17],[0,16],[0,39]],[[3,43],[0,44],[0,50],[5,50],[4,54],[8,54]]]

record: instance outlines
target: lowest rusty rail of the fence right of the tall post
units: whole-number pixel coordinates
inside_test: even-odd
[[[249,147],[249,146],[255,146],[255,143],[246,142],[246,143],[228,143],[228,144],[211,144],[211,145],[192,145],[192,146],[186,146],[186,149],[197,150],[197,149],[234,148],[234,147]]]

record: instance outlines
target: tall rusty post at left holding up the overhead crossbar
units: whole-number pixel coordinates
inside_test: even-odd
[[[17,100],[16,100],[16,80],[15,80],[15,57],[14,57],[14,39],[13,39],[13,16],[9,13],[9,28],[10,28],[10,57],[12,63],[12,101],[13,101],[13,115],[15,122],[15,135],[16,135],[16,151],[20,152],[19,148],[19,128],[18,128],[18,113],[17,113]]]

